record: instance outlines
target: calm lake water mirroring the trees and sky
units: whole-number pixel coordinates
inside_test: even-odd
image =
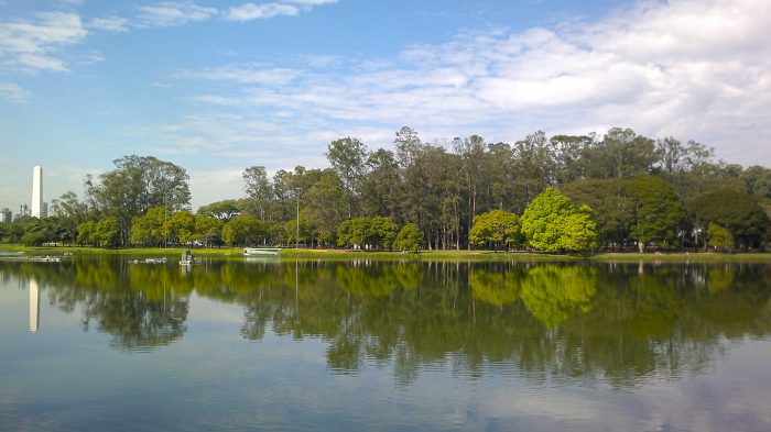
[[[0,262],[0,430],[771,430],[771,266]]]

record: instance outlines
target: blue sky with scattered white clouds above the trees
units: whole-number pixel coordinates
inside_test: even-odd
[[[83,196],[124,155],[184,167],[192,208],[241,173],[612,126],[771,166],[768,0],[0,0],[0,208]]]

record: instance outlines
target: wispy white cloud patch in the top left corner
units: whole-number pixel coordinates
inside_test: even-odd
[[[34,21],[0,23],[0,68],[37,74],[66,71],[57,53],[67,45],[83,42],[88,31],[80,16],[68,12],[37,13]]]

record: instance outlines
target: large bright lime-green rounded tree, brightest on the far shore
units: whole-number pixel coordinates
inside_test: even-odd
[[[590,209],[576,211],[556,189],[546,188],[522,214],[522,233],[530,246],[546,252],[588,252],[597,245],[597,228]]]

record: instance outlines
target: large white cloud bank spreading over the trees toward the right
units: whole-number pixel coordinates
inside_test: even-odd
[[[252,4],[240,16],[264,18],[259,11]],[[430,141],[479,133],[510,142],[536,130],[630,126],[653,137],[695,139],[731,162],[771,165],[769,27],[765,0],[641,2],[594,22],[461,34],[393,59],[349,59],[332,70],[293,66],[283,80],[250,67],[215,67],[198,78],[230,80],[240,90],[196,100],[245,115],[291,113],[324,130],[410,124],[437,134],[424,132]]]

